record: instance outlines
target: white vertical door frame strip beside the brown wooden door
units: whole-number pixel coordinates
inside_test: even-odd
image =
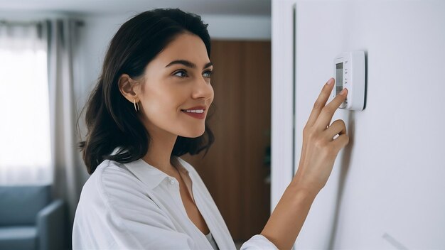
[[[294,173],[293,0],[272,0],[271,212]]]

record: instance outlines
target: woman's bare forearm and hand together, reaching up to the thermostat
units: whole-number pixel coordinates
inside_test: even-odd
[[[331,78],[313,105],[309,121],[303,130],[303,148],[299,169],[272,212],[261,234],[278,249],[291,249],[309,213],[312,202],[331,175],[338,151],[349,142],[342,120],[331,119],[348,94],[341,94],[328,105],[333,88]],[[338,136],[337,136],[338,135]]]

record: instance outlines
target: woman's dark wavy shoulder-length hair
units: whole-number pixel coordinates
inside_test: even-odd
[[[136,161],[145,156],[149,148],[150,135],[134,105],[119,92],[119,77],[122,74],[132,78],[143,75],[146,65],[181,33],[199,36],[210,58],[207,26],[193,13],[154,9],[137,14],[119,28],[109,43],[102,73],[84,107],[87,108],[87,134],[85,141],[80,141],[79,149],[88,173],[92,174],[105,159],[120,163]],[[210,116],[205,120],[203,135],[197,138],[178,136],[172,156],[194,155],[203,150],[207,153],[215,140],[208,127]],[[119,150],[112,154],[117,147]]]

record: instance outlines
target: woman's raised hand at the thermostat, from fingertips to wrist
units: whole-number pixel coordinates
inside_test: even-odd
[[[335,86],[333,83],[331,78],[323,86],[304,126],[299,168],[292,180],[300,188],[314,193],[326,185],[338,152],[349,142],[345,122],[336,120],[331,124],[333,114],[345,101],[348,89],[343,89],[326,105]]]

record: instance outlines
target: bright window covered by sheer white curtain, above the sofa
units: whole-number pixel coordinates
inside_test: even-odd
[[[0,23],[0,184],[50,183],[47,43],[36,24]]]

